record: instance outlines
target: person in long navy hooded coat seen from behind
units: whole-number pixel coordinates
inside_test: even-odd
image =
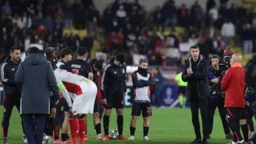
[[[41,144],[45,120],[50,114],[50,92],[58,102],[60,92],[51,64],[39,54],[37,47],[30,48],[24,62],[20,63],[15,82],[22,87],[21,109],[28,143]],[[33,137],[33,117],[35,117],[36,137]]]

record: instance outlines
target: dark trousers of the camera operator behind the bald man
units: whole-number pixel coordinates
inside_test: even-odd
[[[215,114],[216,107],[219,109],[219,115],[221,116],[221,121],[223,122],[224,133],[230,134],[228,122],[226,122],[226,109],[224,108],[224,98],[210,98],[208,99],[207,114],[209,120],[209,134],[213,132],[213,118]]]

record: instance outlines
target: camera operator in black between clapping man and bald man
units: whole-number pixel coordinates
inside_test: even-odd
[[[218,55],[211,56],[211,66],[209,66],[209,87],[210,98],[208,99],[207,114],[209,118],[209,135],[211,138],[211,132],[213,131],[213,117],[216,107],[219,109],[221,121],[223,122],[224,133],[226,139],[233,139],[233,135],[230,134],[228,122],[226,122],[226,111],[224,108],[223,91],[221,90],[221,71],[219,70],[219,62],[221,58]]]

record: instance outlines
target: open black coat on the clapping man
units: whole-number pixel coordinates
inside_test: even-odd
[[[191,83],[192,81],[194,81],[194,79],[197,79],[198,81],[196,81],[196,84],[198,88],[199,98],[209,98],[208,62],[202,55],[200,55],[200,62],[198,63],[196,71],[193,71],[193,74],[190,77],[188,77],[186,69],[188,69],[188,67],[192,67],[191,61],[191,56],[188,58],[188,60],[185,60],[185,67],[182,73],[182,81],[188,82],[188,86],[186,86],[186,96],[188,99],[190,99]]]

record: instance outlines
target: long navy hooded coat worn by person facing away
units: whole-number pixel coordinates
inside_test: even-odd
[[[21,114],[50,114],[50,92],[60,99],[51,63],[41,54],[30,54],[20,63],[15,82],[22,85]]]

